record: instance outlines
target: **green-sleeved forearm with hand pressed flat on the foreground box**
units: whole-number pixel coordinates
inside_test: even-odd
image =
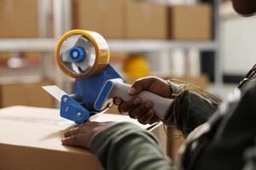
[[[86,122],[69,129],[62,144],[92,150],[106,170],[172,170],[154,135],[129,122]]]

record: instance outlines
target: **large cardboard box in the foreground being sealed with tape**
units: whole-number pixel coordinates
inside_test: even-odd
[[[96,121],[134,122],[127,116],[108,114]],[[0,126],[1,170],[102,169],[89,150],[61,144],[63,133],[73,122],[62,119],[58,110],[9,107],[0,110]]]

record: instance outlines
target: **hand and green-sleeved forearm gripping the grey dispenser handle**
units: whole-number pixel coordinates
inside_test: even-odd
[[[137,80],[128,93],[136,96],[143,90],[174,99],[173,105],[170,105],[169,115],[163,122],[167,126],[176,125],[184,136],[195,127],[207,122],[209,116],[218,109],[219,100],[216,97],[188,84],[177,85],[158,77],[145,77]],[[113,103],[119,105],[120,112],[128,112],[131,118],[136,118],[143,124],[160,121],[154,115],[152,110],[154,103],[149,99],[142,101],[134,97],[126,102],[122,99],[113,99]]]

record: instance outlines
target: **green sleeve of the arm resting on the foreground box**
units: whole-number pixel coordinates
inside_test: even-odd
[[[174,169],[154,136],[129,122],[115,124],[97,134],[91,150],[106,170]]]

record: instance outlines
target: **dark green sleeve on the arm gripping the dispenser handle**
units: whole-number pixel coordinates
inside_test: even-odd
[[[184,84],[177,85],[171,81],[169,85],[172,88],[174,102],[170,116],[163,122],[167,126],[175,125],[185,137],[195,127],[207,122],[209,117],[218,110],[217,103],[220,100],[200,88]]]

